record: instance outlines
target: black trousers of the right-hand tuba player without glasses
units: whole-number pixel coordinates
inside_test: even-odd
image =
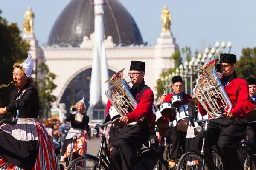
[[[211,146],[217,144],[218,151],[223,161],[224,170],[243,170],[237,156],[235,145],[244,139],[246,124],[243,119],[216,119],[209,121],[207,125],[207,138],[205,143],[205,154],[212,160]],[[196,136],[198,152],[201,152],[204,131]],[[207,154],[209,153],[209,154]]]

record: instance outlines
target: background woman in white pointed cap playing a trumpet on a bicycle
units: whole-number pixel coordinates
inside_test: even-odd
[[[70,148],[73,147],[71,146],[73,136],[76,136],[76,144],[73,148],[73,153],[76,155],[75,157],[84,156],[87,150],[85,135],[89,131],[89,116],[84,113],[86,109],[84,98],[76,103],[76,107],[78,108],[78,112],[76,114],[69,113],[65,119],[65,121],[71,122],[71,128],[62,146],[61,162],[67,161],[67,157],[70,155]]]

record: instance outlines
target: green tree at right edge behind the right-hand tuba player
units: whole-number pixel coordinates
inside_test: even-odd
[[[242,49],[242,56],[236,61],[236,72],[242,79],[256,77],[256,47]]]

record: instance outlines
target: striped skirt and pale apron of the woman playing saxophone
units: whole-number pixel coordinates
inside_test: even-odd
[[[36,118],[18,119],[16,125],[5,124],[1,129],[18,141],[38,140],[37,158],[32,170],[59,170],[58,159],[47,131]],[[23,170],[0,155],[1,170]]]

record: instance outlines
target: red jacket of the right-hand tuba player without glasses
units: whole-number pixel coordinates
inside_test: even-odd
[[[233,118],[244,118],[246,110],[248,110],[249,102],[249,88],[247,82],[244,79],[240,78],[233,79],[225,87],[225,90],[233,104],[233,109],[230,111],[230,113],[233,114]],[[207,114],[207,112],[204,110],[204,108],[202,108],[202,105],[199,102],[198,110],[202,116]]]

